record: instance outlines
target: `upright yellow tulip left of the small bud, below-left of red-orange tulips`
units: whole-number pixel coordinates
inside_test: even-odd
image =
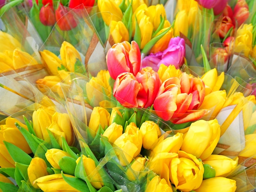
[[[102,129],[108,127],[108,122],[110,118],[110,113],[103,107],[94,107],[89,121],[89,132],[94,138],[101,125]]]

